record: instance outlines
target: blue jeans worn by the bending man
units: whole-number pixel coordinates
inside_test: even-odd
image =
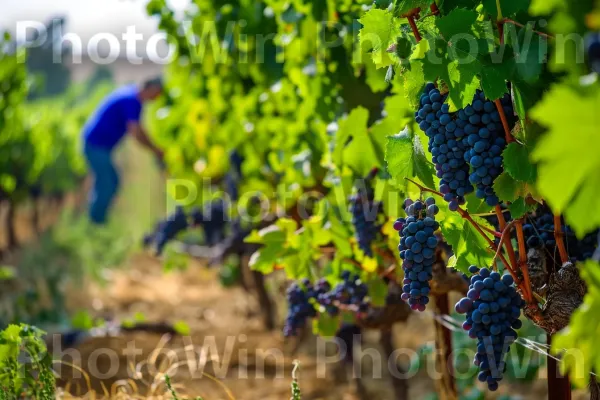
[[[92,222],[103,224],[119,188],[119,174],[110,149],[86,143],[84,154],[94,176],[89,194],[89,216]]]

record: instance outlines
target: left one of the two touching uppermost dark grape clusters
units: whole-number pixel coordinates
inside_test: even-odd
[[[450,210],[456,211],[465,204],[465,195],[473,192],[469,182],[469,165],[465,160],[468,145],[463,137],[464,127],[450,115],[450,106],[444,103],[447,95],[442,95],[432,83],[425,86],[420,99],[420,108],[415,113],[419,128],[429,138],[428,149],[438,178],[440,192],[449,202]]]

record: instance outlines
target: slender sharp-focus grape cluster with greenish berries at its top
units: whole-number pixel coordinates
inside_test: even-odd
[[[425,311],[425,306],[429,303],[429,281],[438,245],[435,231],[440,224],[435,216],[439,208],[433,197],[425,202],[407,199],[404,201],[404,208],[407,218],[400,218],[394,223],[394,229],[400,235],[398,250],[403,260],[402,300],[408,302],[413,310]]]

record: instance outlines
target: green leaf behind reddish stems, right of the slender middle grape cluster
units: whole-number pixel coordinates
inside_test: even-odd
[[[446,212],[445,215],[446,217],[440,221],[440,228],[444,239],[452,246],[454,252],[455,263],[452,266],[464,273],[468,273],[471,265],[489,267],[494,254],[488,242],[469,221],[463,219],[457,213]],[[473,220],[481,226],[493,229],[482,218],[473,217]]]

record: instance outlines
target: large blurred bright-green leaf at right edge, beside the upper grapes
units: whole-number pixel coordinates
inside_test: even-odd
[[[531,111],[548,129],[533,160],[539,162],[537,187],[552,209],[564,214],[578,236],[600,226],[598,105],[600,91],[554,85]]]

